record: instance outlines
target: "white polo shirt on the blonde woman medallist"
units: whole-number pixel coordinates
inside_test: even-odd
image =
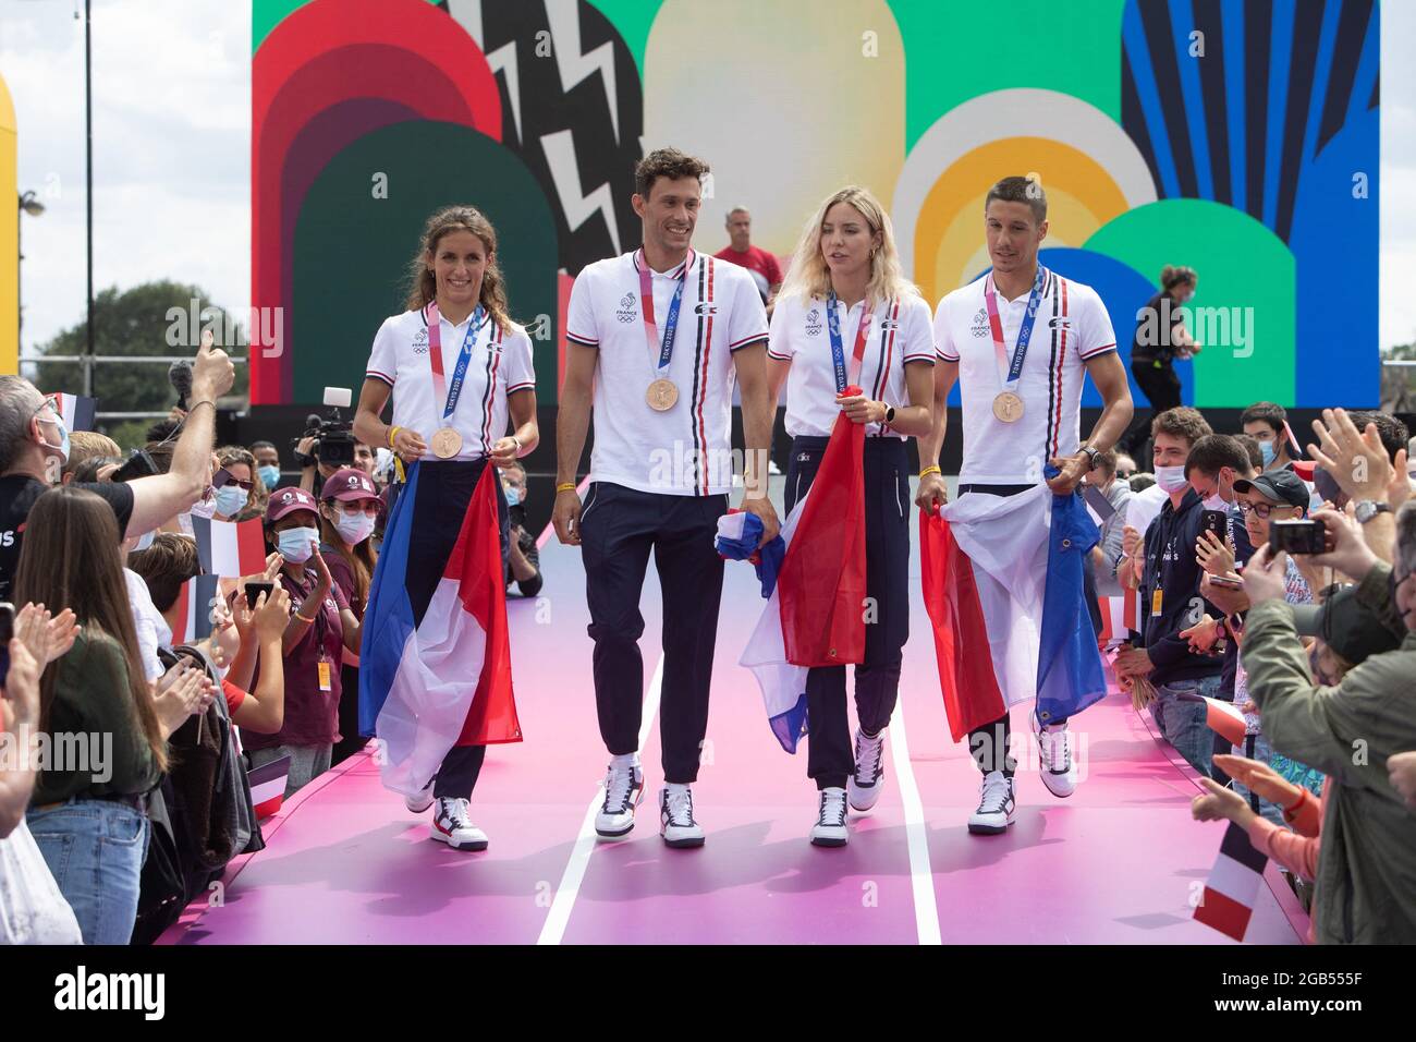
[[[767,357],[790,362],[787,370],[787,434],[826,438],[831,434],[841,407],[835,404],[835,363],[831,357],[831,333],[827,326],[830,303],[820,298],[777,298],[772,310],[772,332]],[[847,308],[835,302],[841,323],[841,349],[850,379],[855,337],[865,315],[865,302]],[[935,364],[935,333],[930,327],[929,305],[918,295],[888,301],[871,316],[872,329],[861,356],[857,386],[867,398],[902,408],[909,405],[905,388],[905,363]],[[929,403],[916,403],[929,404]],[[905,438],[885,424],[868,424],[865,437]]]

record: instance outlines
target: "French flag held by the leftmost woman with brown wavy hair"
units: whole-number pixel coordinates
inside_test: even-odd
[[[384,743],[384,785],[416,795],[453,746],[521,741],[496,482],[481,472],[442,580],[415,625],[408,546],[419,466],[398,496],[364,615],[360,730]]]

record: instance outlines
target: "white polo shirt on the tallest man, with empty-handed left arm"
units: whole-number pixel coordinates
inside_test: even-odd
[[[762,298],[746,269],[695,251],[674,271],[653,272],[663,337],[687,271],[667,369],[678,401],[658,413],[644,397],[660,373],[658,347],[644,336],[637,254],[586,265],[571,288],[565,336],[599,352],[590,478],[640,492],[721,495],[732,488],[732,353],[766,339]]]

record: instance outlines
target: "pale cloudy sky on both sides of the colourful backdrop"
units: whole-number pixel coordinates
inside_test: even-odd
[[[23,346],[84,315],[82,0],[0,0],[20,123]],[[1382,4],[1382,346],[1416,340],[1416,3]],[[251,299],[251,6],[93,3],[93,281]]]

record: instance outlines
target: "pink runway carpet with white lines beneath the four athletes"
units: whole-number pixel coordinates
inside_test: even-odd
[[[583,571],[579,551],[554,539],[541,560],[541,603],[508,605],[527,740],[489,750],[473,795],[490,849],[429,841],[429,815],[408,814],[358,756],[302,790],[266,824],[268,848],[235,862],[218,899],[194,903],[163,943],[1233,943],[1195,923],[1191,906],[1222,825],[1191,819],[1192,774],[1119,693],[1073,720],[1085,774],[1072,798],[1054,798],[1035,754],[1020,750],[1015,824],[1001,836],[967,834],[978,775],[949,739],[918,560],[886,791],[869,817],[852,815],[847,848],[807,842],[816,790],[806,750],[782,751],[756,683],[736,665],[762,608],[741,563],[726,568],[694,787],[707,845],[670,851],[658,838],[657,716],[643,744],[639,825],[626,842],[595,845],[588,814],[607,757]],[[650,568],[646,719],[660,612]],[[1014,733],[1028,733],[1021,706]],[[1300,943],[1307,921],[1272,865],[1264,882],[1246,941]]]

